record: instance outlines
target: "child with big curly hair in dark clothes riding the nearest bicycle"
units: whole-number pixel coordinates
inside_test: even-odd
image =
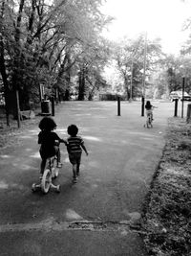
[[[56,124],[51,117],[44,117],[40,121],[38,127],[41,129],[38,134],[38,144],[41,144],[39,152],[42,158],[40,165],[40,175],[42,176],[47,158],[52,157],[55,154],[57,156],[57,167],[61,167],[59,143],[66,143],[66,141],[60,139],[59,136],[53,132],[53,129],[56,128]]]

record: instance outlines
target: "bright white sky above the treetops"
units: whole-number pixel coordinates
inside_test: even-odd
[[[188,36],[188,32],[182,32],[182,24],[191,16],[191,1],[107,0],[102,12],[116,18],[104,32],[109,39],[147,32],[148,39],[161,38],[166,53],[178,54]]]

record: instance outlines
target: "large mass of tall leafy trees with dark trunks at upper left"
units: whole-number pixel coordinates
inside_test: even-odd
[[[35,100],[40,83],[65,95],[70,91],[76,62],[109,19],[99,11],[102,0],[16,2],[1,4],[0,71],[5,88],[19,90],[24,109]]]

